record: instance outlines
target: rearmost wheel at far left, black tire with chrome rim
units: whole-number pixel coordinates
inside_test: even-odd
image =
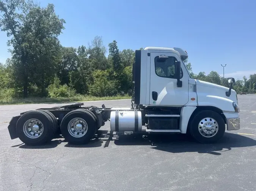
[[[35,120],[33,120],[35,119]],[[31,122],[31,123],[29,123]],[[32,131],[33,123],[39,122],[38,133]],[[41,125],[40,125],[41,124]],[[33,125],[33,126],[34,126]],[[46,112],[33,110],[23,114],[16,124],[16,133],[19,139],[27,145],[42,145],[53,139],[54,123],[52,118]]]

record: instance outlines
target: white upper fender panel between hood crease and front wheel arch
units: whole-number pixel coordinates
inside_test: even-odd
[[[233,101],[216,95],[199,95],[198,106],[214,106],[223,112],[234,112]]]

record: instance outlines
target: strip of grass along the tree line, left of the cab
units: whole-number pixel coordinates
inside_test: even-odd
[[[119,99],[131,99],[129,95],[116,95],[110,97],[95,97],[90,95],[77,95],[74,97],[29,97],[29,98],[3,98],[0,99],[0,105],[7,104],[26,104],[26,103],[61,103],[61,102],[86,102],[97,100],[119,100]]]

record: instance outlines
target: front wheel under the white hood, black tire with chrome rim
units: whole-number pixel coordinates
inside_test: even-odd
[[[204,127],[208,123],[209,128]],[[190,123],[192,137],[200,143],[214,143],[225,133],[225,122],[215,111],[199,111]]]

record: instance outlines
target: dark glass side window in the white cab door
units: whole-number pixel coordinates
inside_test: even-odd
[[[155,74],[160,77],[175,79],[175,62],[177,59],[173,56],[168,56],[166,60],[160,60],[159,57],[155,57]],[[180,79],[183,76],[181,69]]]

